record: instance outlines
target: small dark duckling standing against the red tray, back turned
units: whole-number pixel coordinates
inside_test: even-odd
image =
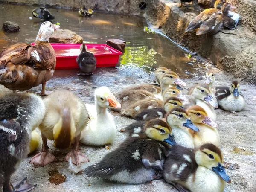
[[[93,71],[96,69],[96,58],[93,53],[87,51],[85,44],[81,44],[80,49],[81,53],[76,58],[76,62],[80,67],[80,73],[77,73],[77,75],[86,75],[84,73],[89,73],[89,75],[92,75]]]

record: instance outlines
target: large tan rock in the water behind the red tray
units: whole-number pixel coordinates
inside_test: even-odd
[[[82,44],[83,38],[68,29],[57,29],[49,39],[50,43]]]

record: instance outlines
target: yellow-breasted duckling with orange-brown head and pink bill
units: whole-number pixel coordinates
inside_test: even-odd
[[[200,132],[190,132],[193,136],[195,148],[205,143],[220,146],[218,125],[210,119],[206,111],[198,105],[193,105],[187,110],[189,118],[200,129]]]

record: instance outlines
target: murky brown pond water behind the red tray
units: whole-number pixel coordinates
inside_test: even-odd
[[[32,16],[35,7],[0,3],[0,25],[8,20],[18,23],[21,28],[17,33],[7,33],[0,29],[0,51],[17,42],[35,41],[43,23],[41,19]],[[148,24],[143,17],[101,12],[94,12],[92,17],[79,17],[78,10],[49,8],[49,11],[55,15],[52,23],[59,22],[61,29],[70,29],[81,35],[85,43],[105,44],[113,38],[126,41],[125,52],[120,56],[117,66],[140,67],[148,72],[164,66],[180,76],[194,74],[200,68],[199,64],[192,63],[191,58],[186,57],[184,49],[170,39],[158,32],[144,32]]]

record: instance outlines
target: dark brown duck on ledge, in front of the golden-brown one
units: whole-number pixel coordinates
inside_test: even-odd
[[[237,22],[230,18],[229,11],[234,8],[230,3],[225,3],[221,7],[222,13],[216,13],[215,15],[211,16],[208,20],[206,20],[199,28],[199,30],[196,32],[196,35],[203,35],[203,34],[209,34],[213,35],[219,31],[223,27],[227,27],[229,29],[235,29]]]

